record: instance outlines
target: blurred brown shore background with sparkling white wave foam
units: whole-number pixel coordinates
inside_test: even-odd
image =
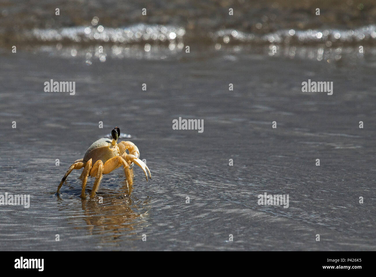
[[[319,60],[334,55],[338,60],[344,49],[330,47],[369,46],[376,38],[376,4],[371,0],[2,0],[0,8],[3,47],[21,43],[21,49],[85,55],[89,61],[105,61],[108,56],[161,58],[162,53],[181,52],[183,45],[241,51],[271,44],[284,50],[276,55]],[[97,45],[108,51],[99,55]],[[307,52],[301,46],[317,46],[320,51]],[[140,52],[130,53],[136,49]]]

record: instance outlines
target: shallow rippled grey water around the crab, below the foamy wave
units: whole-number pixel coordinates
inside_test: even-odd
[[[192,42],[189,54],[176,41],[150,51],[110,43],[104,60],[97,41],[2,48],[0,194],[30,194],[30,208],[0,205],[2,249],[376,250],[376,49],[371,29],[364,34],[364,54],[332,38],[278,44],[277,53],[274,42]],[[44,92],[50,79],[75,81],[75,95]],[[333,81],[333,95],[302,92],[308,79]],[[203,119],[203,133],[173,130],[179,117]],[[104,175],[99,203],[79,197],[79,170],[56,195],[71,163],[115,126],[131,135],[152,179],[135,166],[129,196],[117,169]],[[258,205],[265,192],[289,194],[289,207]]]

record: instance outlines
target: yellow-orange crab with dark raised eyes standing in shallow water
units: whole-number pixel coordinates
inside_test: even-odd
[[[85,187],[89,175],[96,178],[91,190],[90,198],[94,198],[96,196],[96,191],[98,190],[100,181],[102,179],[102,174],[108,174],[118,167],[124,167],[124,173],[128,185],[133,184],[133,164],[136,164],[143,169],[146,176],[146,181],[148,181],[147,172],[149,173],[150,179],[152,178],[149,168],[139,159],[140,153],[137,146],[130,141],[121,141],[117,143],[117,139],[120,136],[119,127],[115,127],[112,130],[111,136],[112,140],[108,138],[101,138],[95,141],[88,148],[83,158],[75,161],[69,167],[64,177],[61,179],[56,193],[59,193],[62,184],[73,169],[83,168],[80,176],[80,179],[82,179],[81,197],[83,198],[86,197]]]

